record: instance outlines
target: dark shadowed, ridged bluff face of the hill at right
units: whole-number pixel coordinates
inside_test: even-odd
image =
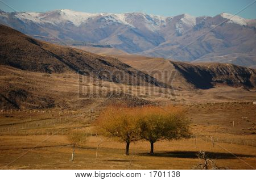
[[[199,65],[171,62],[188,82],[199,89],[212,88],[216,83],[232,87],[253,88],[256,85],[255,70],[233,64],[205,63]]]

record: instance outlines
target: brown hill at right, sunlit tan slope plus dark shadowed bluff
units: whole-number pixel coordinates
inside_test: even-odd
[[[158,78],[174,89],[209,89],[216,84],[251,89],[256,85],[255,69],[233,64],[191,64],[136,55],[115,55],[115,57],[135,69]]]

